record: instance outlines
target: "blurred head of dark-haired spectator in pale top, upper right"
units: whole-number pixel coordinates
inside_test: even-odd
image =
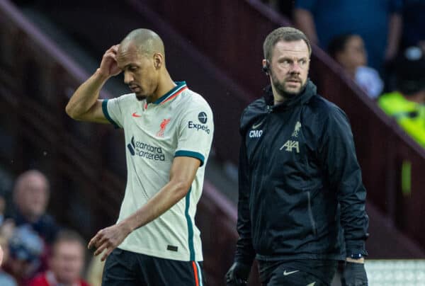
[[[365,45],[362,38],[358,35],[353,35],[347,40],[344,51],[336,54],[336,61],[338,61],[344,69],[353,73],[358,67],[367,64],[366,57]]]

